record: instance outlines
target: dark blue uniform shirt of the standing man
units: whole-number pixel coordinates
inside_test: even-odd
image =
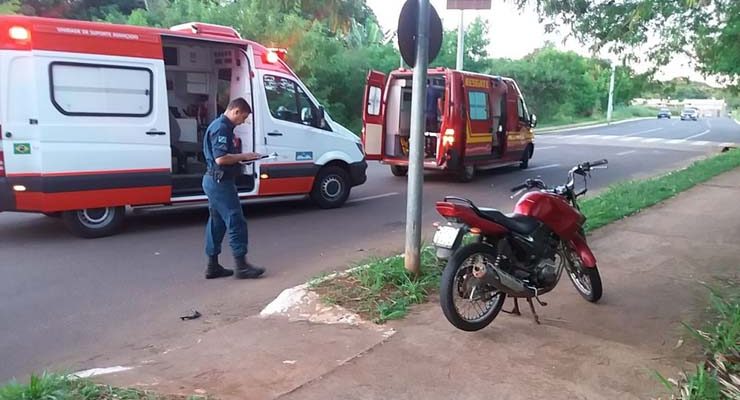
[[[218,165],[216,159],[226,154],[238,154],[234,145],[234,124],[221,115],[208,125],[203,138],[203,155],[209,171],[224,171],[223,179],[234,179],[240,171],[239,164]]]

